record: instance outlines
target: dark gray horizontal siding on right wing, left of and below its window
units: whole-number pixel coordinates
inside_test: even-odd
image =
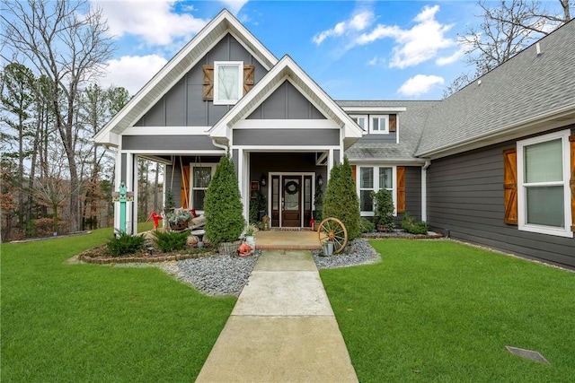
[[[498,144],[431,161],[427,170],[428,224],[453,239],[521,257],[575,267],[575,239],[519,231],[505,223],[503,151]]]

